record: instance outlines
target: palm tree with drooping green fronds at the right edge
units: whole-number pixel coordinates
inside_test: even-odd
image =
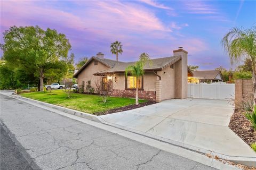
[[[251,29],[233,28],[221,40],[228,53],[231,64],[239,63],[244,58],[252,61],[252,80],[254,105],[256,104],[256,27]]]

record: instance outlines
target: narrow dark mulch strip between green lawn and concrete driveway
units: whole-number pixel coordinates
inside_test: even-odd
[[[129,106],[110,109],[110,110],[104,111],[104,112],[97,112],[97,113],[94,113],[94,115],[101,116],[101,115],[107,115],[107,114],[116,113],[116,112],[129,111],[129,110],[134,109],[134,108],[148,106],[148,105],[152,105],[152,104],[155,104],[155,103],[156,103],[155,101],[147,101],[147,102],[144,102],[144,103],[140,103],[139,105],[134,104],[134,105],[129,105]]]

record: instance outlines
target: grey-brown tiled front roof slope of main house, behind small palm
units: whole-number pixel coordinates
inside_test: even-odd
[[[181,59],[181,56],[173,56],[173,57],[164,57],[164,58],[156,58],[152,59],[151,62],[147,62],[145,66],[143,67],[144,70],[162,70],[166,66],[169,66]],[[124,72],[125,68],[129,65],[134,65],[136,62],[119,62],[118,64],[115,64],[113,67],[110,67],[107,70],[103,70],[97,73],[94,73],[95,75],[100,75],[104,73],[116,73],[116,72]]]

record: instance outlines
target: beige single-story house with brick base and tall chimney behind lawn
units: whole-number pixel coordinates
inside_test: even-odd
[[[173,51],[172,57],[156,58],[144,67],[145,75],[140,78],[139,98],[154,101],[165,99],[187,98],[188,53],[183,49]],[[125,77],[125,68],[135,62],[117,62],[104,58],[102,53],[91,57],[80,70],[74,74],[78,79],[78,87],[91,80],[95,88],[95,80],[99,78],[113,80],[112,96],[135,97],[135,78]]]

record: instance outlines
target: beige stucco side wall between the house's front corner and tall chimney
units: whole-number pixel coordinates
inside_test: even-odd
[[[175,94],[175,64],[174,68],[170,66],[158,71],[158,75],[161,76],[162,81],[162,100],[173,99]]]

